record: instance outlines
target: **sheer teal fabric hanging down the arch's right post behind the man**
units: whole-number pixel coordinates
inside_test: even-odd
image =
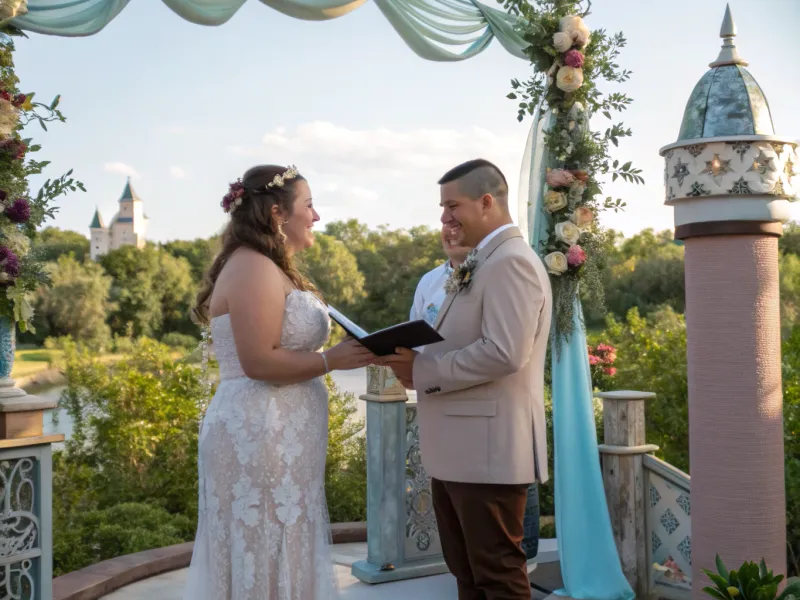
[[[534,115],[522,167],[520,217],[527,217],[528,241],[537,252],[548,231],[544,176],[551,165],[544,132],[553,121],[549,112],[541,119],[538,113]],[[608,516],[583,309],[579,300],[575,302],[574,333],[560,352],[555,348],[551,352],[556,535],[564,582],[556,594],[587,600],[633,600]]]

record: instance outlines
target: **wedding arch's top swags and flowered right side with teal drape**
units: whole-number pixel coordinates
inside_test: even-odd
[[[6,33],[64,37],[98,33],[131,0],[0,0]],[[222,25],[246,0],[162,0],[181,18]],[[346,15],[366,0],[260,0],[297,19],[323,21]],[[607,235],[602,210],[624,203],[600,200],[601,180],[641,183],[630,162],[610,156],[630,130],[622,123],[592,131],[592,115],[609,120],[630,103],[625,94],[604,96],[602,80],[624,82],[615,60],[621,34],[590,31],[583,21],[591,0],[500,0],[503,10],[477,0],[372,0],[418,56],[466,60],[493,40],[534,67],[530,79],[513,81],[508,97],[518,117],[533,115],[521,166],[519,225],[542,256],[554,294],[552,400],[555,506],[564,589],[575,598],[630,600],[620,566],[598,462],[592,384],[580,298],[602,304],[600,269]],[[55,106],[55,104],[53,105]]]

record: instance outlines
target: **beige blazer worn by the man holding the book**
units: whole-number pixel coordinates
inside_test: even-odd
[[[477,261],[470,285],[439,310],[444,341],[414,361],[422,463],[442,481],[544,482],[547,270],[516,227]]]

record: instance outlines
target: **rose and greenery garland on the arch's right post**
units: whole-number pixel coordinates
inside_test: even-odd
[[[508,98],[519,100],[518,120],[550,111],[553,125],[545,132],[550,151],[544,207],[548,237],[538,251],[544,258],[553,288],[554,333],[557,342],[573,332],[577,299],[602,309],[602,268],[609,232],[597,222],[603,210],[623,210],[625,203],[610,196],[600,201],[601,179],[611,174],[641,184],[641,170],[631,162],[620,164],[610,155],[611,145],[631,135],[623,123],[605,132],[592,131],[589,119],[625,110],[631,99],[624,93],[604,95],[599,81],[623,83],[630,71],[615,62],[625,46],[621,33],[589,31],[583,18],[591,2],[581,0],[499,0],[511,14],[521,17],[520,29],[530,45],[525,54],[534,67],[527,81],[513,80]],[[584,7],[584,4],[586,6]]]

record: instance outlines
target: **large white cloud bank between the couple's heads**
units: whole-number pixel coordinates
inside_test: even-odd
[[[247,162],[297,164],[309,179],[323,225],[357,218],[373,227],[438,227],[436,181],[466,160],[494,162],[516,199],[526,134],[524,126],[504,132],[477,127],[400,131],[316,121],[272,129],[262,145],[230,146],[228,152]]]

